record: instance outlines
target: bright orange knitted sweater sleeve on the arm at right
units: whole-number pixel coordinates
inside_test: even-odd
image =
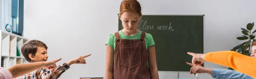
[[[215,51],[207,53],[205,60],[233,68],[256,79],[256,58],[235,51]]]

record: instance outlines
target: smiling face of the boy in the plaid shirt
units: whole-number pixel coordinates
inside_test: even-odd
[[[34,62],[47,61],[48,59],[47,50],[45,48],[38,47],[35,53],[35,56],[31,57],[30,59],[33,60]]]

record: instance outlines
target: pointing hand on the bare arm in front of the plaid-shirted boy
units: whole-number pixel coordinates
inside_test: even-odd
[[[57,60],[52,60],[52,61],[47,61],[47,62],[44,62],[44,68],[47,68],[48,70],[50,69],[55,69],[56,68],[56,62],[60,61],[60,59],[57,59]]]

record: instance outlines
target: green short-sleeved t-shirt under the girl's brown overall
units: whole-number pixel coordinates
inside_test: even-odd
[[[118,33],[119,33],[120,39],[140,39],[142,31],[140,31],[138,34],[135,34],[134,36],[127,36],[127,35],[123,34],[121,30],[118,31]],[[144,40],[145,40],[145,45],[146,45],[147,50],[149,47],[151,47],[152,45],[155,44],[151,34],[146,33]],[[115,34],[110,34],[108,36],[106,45],[110,45],[115,50],[115,45],[116,45]]]

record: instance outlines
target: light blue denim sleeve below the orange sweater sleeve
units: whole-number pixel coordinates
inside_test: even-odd
[[[212,78],[215,79],[253,79],[238,71],[212,68]]]

